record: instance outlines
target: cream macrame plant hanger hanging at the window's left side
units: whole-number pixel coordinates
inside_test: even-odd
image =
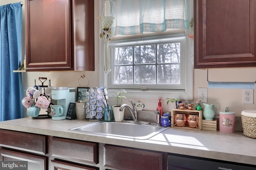
[[[110,2],[111,4],[111,2]],[[100,18],[102,23],[102,31],[100,34],[100,38],[103,38],[105,47],[104,47],[104,71],[105,73],[109,73],[111,71],[110,69],[110,56],[109,56],[109,47],[108,43],[111,41],[111,27],[113,24],[113,15],[112,15],[112,9],[110,5],[110,12],[112,16],[104,16],[105,8],[102,11],[102,16]]]

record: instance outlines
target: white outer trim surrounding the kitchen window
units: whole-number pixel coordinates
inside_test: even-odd
[[[104,7],[104,2],[99,2],[99,16]],[[188,18],[193,16],[193,4],[188,1]],[[101,32],[101,23],[99,20],[98,32]],[[185,33],[186,35],[187,33]],[[99,38],[100,39],[100,38]],[[135,90],[135,89],[126,89],[126,97],[128,98],[179,98],[183,100],[192,100],[193,99],[193,61],[194,61],[194,45],[193,39],[186,36],[185,40],[185,89],[184,90]],[[112,71],[108,74],[104,73],[104,41],[99,41],[99,84],[100,86],[105,86],[108,89],[108,76],[112,75]],[[108,96],[112,96],[116,93],[118,89],[108,89]]]

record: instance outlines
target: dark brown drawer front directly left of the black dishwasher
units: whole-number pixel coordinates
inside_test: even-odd
[[[104,166],[120,170],[163,170],[163,154],[104,145]]]

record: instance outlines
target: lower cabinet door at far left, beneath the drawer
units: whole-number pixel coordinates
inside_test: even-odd
[[[28,161],[28,170],[47,170],[46,158],[0,149],[1,161]]]

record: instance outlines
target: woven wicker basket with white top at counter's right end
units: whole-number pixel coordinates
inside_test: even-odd
[[[242,127],[245,136],[256,138],[256,113],[242,111]]]

